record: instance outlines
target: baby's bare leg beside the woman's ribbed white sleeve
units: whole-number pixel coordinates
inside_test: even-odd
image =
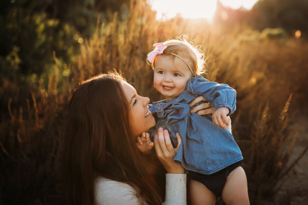
[[[215,205],[215,194],[200,182],[189,179],[188,192],[192,205]]]

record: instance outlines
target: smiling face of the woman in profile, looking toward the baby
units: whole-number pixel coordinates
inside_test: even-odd
[[[150,99],[139,96],[135,88],[125,81],[122,81],[122,89],[131,108],[130,121],[132,134],[133,136],[140,136],[141,132],[146,132],[155,126],[155,119],[148,108]]]

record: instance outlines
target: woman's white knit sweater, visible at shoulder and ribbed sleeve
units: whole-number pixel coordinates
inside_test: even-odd
[[[127,183],[98,176],[94,182],[95,205],[146,204]],[[163,205],[186,205],[186,174],[166,174],[166,197]]]

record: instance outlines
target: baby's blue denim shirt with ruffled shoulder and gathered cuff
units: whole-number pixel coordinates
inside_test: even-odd
[[[182,144],[174,162],[187,170],[201,174],[213,174],[243,159],[241,150],[232,134],[217,127],[212,115],[198,115],[190,112],[190,103],[194,98],[204,96],[215,105],[230,109],[229,115],[236,109],[236,91],[226,84],[209,82],[200,75],[190,78],[186,89],[171,101],[162,100],[149,104],[156,120],[156,129],[168,129],[174,147],[177,146],[176,132],[182,137]]]

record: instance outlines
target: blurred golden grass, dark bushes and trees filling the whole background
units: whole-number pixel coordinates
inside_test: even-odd
[[[307,6],[263,0],[247,11],[218,2],[210,24],[180,15],[158,22],[145,0],[0,2],[0,203],[61,204],[59,142],[78,82],[113,68],[158,101],[146,56],[181,34],[203,45],[204,77],[237,90],[231,118],[251,204],[273,199],[306,152],[289,160],[292,114],[308,111]]]

